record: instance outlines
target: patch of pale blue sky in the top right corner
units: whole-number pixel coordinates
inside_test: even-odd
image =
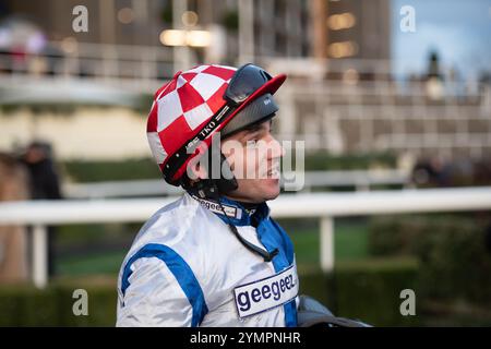
[[[399,28],[403,5],[416,11],[416,32]],[[428,56],[436,50],[445,67],[463,79],[491,72],[491,0],[393,0],[393,69],[398,77],[424,71]]]

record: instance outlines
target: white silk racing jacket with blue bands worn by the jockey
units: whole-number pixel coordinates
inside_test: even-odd
[[[244,239],[279,253],[264,262],[237,239],[216,202],[185,193],[154,214],[124,258],[117,326],[297,326],[290,239],[265,203],[250,215],[220,202]]]

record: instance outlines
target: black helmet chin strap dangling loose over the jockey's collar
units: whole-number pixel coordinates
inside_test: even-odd
[[[258,248],[255,244],[250,243],[248,240],[242,238],[242,236],[237,230],[237,227],[231,222],[230,217],[227,216],[225,213],[225,208],[221,205],[220,202],[220,195],[226,194],[232,190],[236,190],[238,188],[237,179],[233,177],[233,173],[230,169],[230,166],[228,165],[228,161],[224,154],[220,152],[220,169],[223,171],[226,171],[227,173],[224,178],[224,176],[220,176],[219,179],[202,179],[194,183],[194,185],[191,188],[193,192],[195,192],[201,198],[212,198],[215,200],[224,216],[226,217],[228,221],[228,227],[230,228],[231,232],[236,236],[236,238],[242,243],[242,245],[251,251],[252,253],[256,253],[261,255],[264,258],[264,262],[271,262],[275,255],[278,254],[278,249],[274,249],[271,253],[266,251],[265,249]]]

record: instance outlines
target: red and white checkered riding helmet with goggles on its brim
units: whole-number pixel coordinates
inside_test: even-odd
[[[203,142],[209,146],[214,133],[259,97],[273,95],[285,80],[253,64],[204,64],[178,72],[155,93],[147,120],[148,143],[164,179],[180,185],[197,147]]]

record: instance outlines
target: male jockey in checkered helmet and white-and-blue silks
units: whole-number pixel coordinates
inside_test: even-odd
[[[253,64],[200,65],[156,92],[152,153],[187,192],[124,258],[118,326],[297,326],[294,248],[266,204],[279,194],[284,151],[271,127],[285,80]]]

